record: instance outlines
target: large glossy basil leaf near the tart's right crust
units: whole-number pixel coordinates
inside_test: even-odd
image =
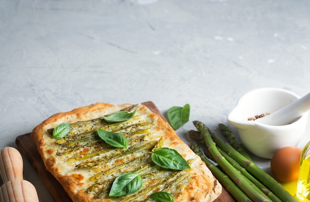
[[[173,170],[184,170],[191,168],[186,160],[176,150],[159,148],[152,153],[152,160],[155,164]]]

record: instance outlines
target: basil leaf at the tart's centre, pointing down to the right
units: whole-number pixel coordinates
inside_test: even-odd
[[[119,133],[112,133],[105,131],[103,129],[97,129],[98,135],[101,139],[104,140],[107,144],[117,147],[127,149],[129,142],[128,140]]]

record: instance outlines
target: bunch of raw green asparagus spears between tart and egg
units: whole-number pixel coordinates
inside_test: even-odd
[[[203,141],[212,156],[212,160],[218,163],[252,201],[297,202],[276,180],[261,170],[252,159],[248,159],[229,143],[225,143],[214,133],[209,132],[207,126],[202,122],[194,121],[193,123],[199,133],[191,131],[190,137],[199,142]],[[259,181],[259,184],[250,180]]]

